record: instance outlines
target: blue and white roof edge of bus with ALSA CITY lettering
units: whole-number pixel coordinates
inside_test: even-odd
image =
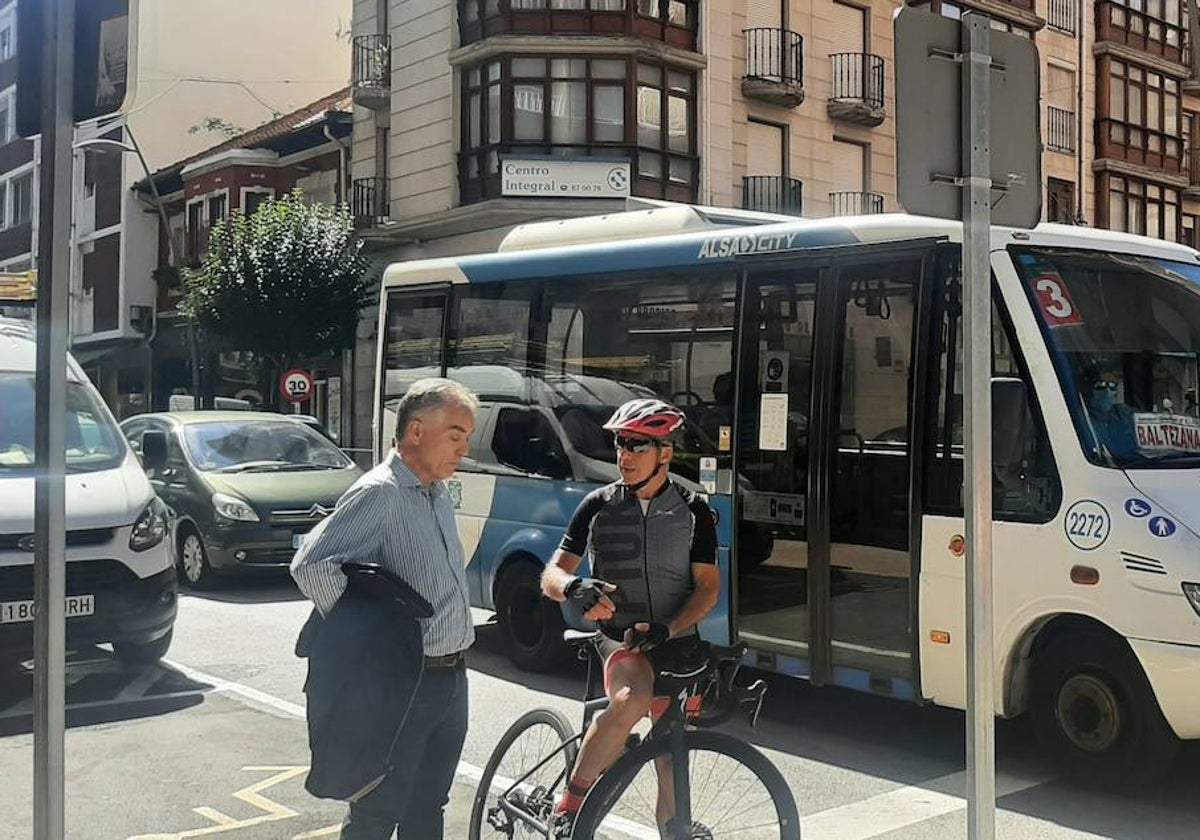
[[[958,221],[880,214],[746,226],[707,226],[661,235],[629,236],[628,216],[610,214],[575,220],[572,229],[590,227],[588,241],[535,248],[528,238],[521,250],[395,263],[384,271],[383,286],[425,283],[488,283],[586,276],[612,271],[652,271],[728,264],[755,256],[794,253],[811,248],[904,242],[916,239],[962,240]],[[553,240],[554,236],[547,236]],[[620,244],[617,247],[617,244]],[[992,250],[1012,244],[1120,251],[1159,259],[1200,263],[1200,253],[1174,242],[1086,227],[1039,224],[1033,229],[992,228]]]

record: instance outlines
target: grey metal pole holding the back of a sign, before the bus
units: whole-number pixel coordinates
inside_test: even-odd
[[[996,834],[991,581],[991,25],[962,16],[967,836]]]

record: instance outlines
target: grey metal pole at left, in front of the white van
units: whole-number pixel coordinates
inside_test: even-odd
[[[71,270],[74,0],[44,4],[38,175],[34,492],[34,836],[64,834],[66,370]]]

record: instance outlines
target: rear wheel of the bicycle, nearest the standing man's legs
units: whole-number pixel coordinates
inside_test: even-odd
[[[518,718],[484,768],[470,811],[470,840],[545,838],[523,817],[542,824],[551,821],[575,764],[574,739],[571,725],[562,712],[534,709]]]

